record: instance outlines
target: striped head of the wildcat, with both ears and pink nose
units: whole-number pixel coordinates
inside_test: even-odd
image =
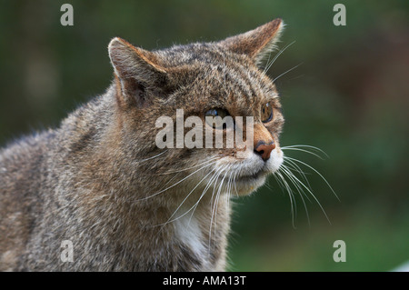
[[[108,49],[115,69],[122,150],[139,167],[138,175],[152,180],[153,173],[157,174],[152,188],[163,190],[167,183],[169,188],[185,186],[199,194],[216,189],[247,195],[279,168],[284,117],[275,85],[259,65],[274,49],[283,26],[281,19],[275,19],[220,42],[175,45],[153,52],[120,38],[111,41]],[[177,110],[183,110],[182,124],[193,116],[200,124],[177,125]],[[206,116],[229,115],[234,120],[243,117],[244,123],[206,122]],[[166,128],[165,148],[160,148],[155,140],[165,125],[158,127],[157,120],[164,116],[173,123]],[[252,125],[247,126],[250,121],[246,120]],[[203,146],[183,142],[180,146],[178,130],[182,138],[189,132],[192,137],[192,127],[197,134],[190,140]],[[246,134],[249,127],[251,138]],[[226,146],[226,136],[236,130],[244,134],[244,148]],[[223,135],[223,146],[206,146],[205,132],[212,133],[211,139]]]

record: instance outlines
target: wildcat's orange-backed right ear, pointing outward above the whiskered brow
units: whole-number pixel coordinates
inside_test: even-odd
[[[260,65],[274,50],[283,28],[283,21],[277,18],[244,34],[228,37],[219,44],[236,54],[248,55],[256,65]]]

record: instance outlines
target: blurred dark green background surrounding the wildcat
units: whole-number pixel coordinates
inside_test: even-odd
[[[74,6],[74,26],[60,7]],[[333,24],[334,4],[346,26]],[[287,155],[308,167],[320,205],[274,178],[235,200],[232,271],[389,271],[409,260],[409,1],[0,1],[0,144],[56,126],[101,94],[114,36],[156,49],[214,41],[275,17],[286,23],[269,70],[286,124],[282,145],[329,155]],[[305,199],[305,197],[304,197]],[[346,262],[335,263],[335,240]]]

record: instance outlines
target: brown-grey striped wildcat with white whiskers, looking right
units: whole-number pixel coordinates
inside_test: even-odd
[[[0,269],[224,270],[229,198],[254,192],[283,162],[278,93],[259,68],[282,29],[275,19],[152,52],[114,38],[104,95],[0,151]],[[203,120],[253,116],[254,150],[158,148],[155,120],[181,108]]]

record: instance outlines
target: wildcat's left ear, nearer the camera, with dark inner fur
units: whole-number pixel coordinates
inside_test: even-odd
[[[149,100],[146,99],[146,91],[157,90],[166,79],[165,68],[158,64],[157,56],[119,37],[111,40],[108,52],[121,100],[140,106],[147,105]]]

